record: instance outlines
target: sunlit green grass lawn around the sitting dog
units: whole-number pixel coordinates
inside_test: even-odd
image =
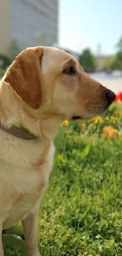
[[[117,109],[59,129],[38,218],[42,256],[122,255],[122,112]],[[108,132],[106,126],[117,130]],[[21,235],[21,225],[10,232]],[[22,254],[6,247],[5,255]]]

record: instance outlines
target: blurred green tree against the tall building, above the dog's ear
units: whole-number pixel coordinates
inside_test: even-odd
[[[20,47],[18,46],[18,42],[16,39],[12,39],[10,46],[8,48],[8,56],[11,62],[15,59],[16,56],[21,52]]]

